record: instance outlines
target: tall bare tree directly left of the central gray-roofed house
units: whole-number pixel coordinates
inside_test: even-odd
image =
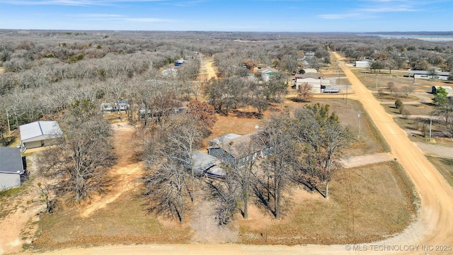
[[[193,201],[195,172],[193,154],[200,145],[197,120],[188,115],[175,116],[147,143],[143,152],[147,163],[144,176],[149,210],[176,215],[182,225],[187,197]]]

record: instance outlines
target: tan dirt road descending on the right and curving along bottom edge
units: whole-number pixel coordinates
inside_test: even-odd
[[[338,60],[343,60],[337,54],[336,57]],[[391,154],[404,166],[420,196],[418,219],[401,234],[377,242],[373,247],[380,250],[372,250],[370,244],[356,246],[360,251],[348,249],[349,246],[345,245],[156,244],[74,248],[47,254],[453,254],[453,251],[430,250],[435,249],[437,244],[450,245],[450,247],[453,245],[452,187],[425,158],[420,149],[408,139],[406,133],[394,123],[391,116],[385,113],[384,108],[350,69],[343,62],[340,62],[340,67],[350,79],[355,91],[355,94],[350,97],[363,103],[367,114],[374,120],[375,125],[389,143]],[[422,245],[425,245],[424,250]],[[394,251],[388,251],[388,249],[394,249]]]

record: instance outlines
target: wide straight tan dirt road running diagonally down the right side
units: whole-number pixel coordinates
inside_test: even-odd
[[[343,60],[336,54],[338,60]],[[398,236],[387,239],[386,244],[445,244],[453,245],[453,190],[423,153],[408,139],[406,133],[394,123],[359,79],[344,62],[340,67],[355,89],[351,97],[361,101],[391,147],[391,153],[403,165],[420,196],[420,212],[416,222]],[[452,251],[445,254],[452,254]]]

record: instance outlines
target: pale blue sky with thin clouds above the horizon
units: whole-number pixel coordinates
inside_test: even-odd
[[[0,0],[1,29],[452,31],[452,0]]]

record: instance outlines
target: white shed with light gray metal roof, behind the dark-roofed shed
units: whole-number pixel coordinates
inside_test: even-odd
[[[21,146],[23,149],[45,147],[59,137],[63,132],[57,121],[36,121],[19,126],[21,130]]]

